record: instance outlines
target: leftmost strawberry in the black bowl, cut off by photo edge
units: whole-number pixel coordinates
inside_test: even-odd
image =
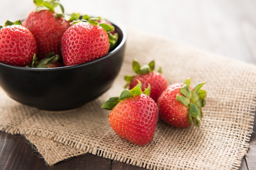
[[[0,62],[15,66],[29,65],[37,53],[34,35],[20,21],[7,21],[0,29]]]

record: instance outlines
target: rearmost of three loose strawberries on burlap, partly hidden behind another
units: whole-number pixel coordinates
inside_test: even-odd
[[[151,86],[150,97],[152,97],[155,102],[161,93],[167,88],[166,78],[161,74],[162,70],[159,68],[159,71],[154,71],[155,61],[151,61],[148,65],[140,66],[137,61],[132,62],[132,68],[137,75],[128,76],[126,75],[124,79],[127,84],[125,87],[132,89],[137,84],[137,79],[142,84],[142,90],[148,87],[148,84]]]

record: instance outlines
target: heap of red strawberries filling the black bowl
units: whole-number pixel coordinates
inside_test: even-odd
[[[0,27],[0,62],[26,67],[82,64],[106,55],[118,34],[110,22],[80,13],[64,14],[58,0],[34,0],[23,22]],[[61,13],[56,13],[56,7]]]

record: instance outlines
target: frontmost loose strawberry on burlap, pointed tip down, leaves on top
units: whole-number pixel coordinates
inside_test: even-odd
[[[142,93],[141,82],[120,97],[111,97],[101,108],[111,110],[109,123],[122,138],[143,146],[153,139],[158,119],[155,101],[148,96],[150,86]]]

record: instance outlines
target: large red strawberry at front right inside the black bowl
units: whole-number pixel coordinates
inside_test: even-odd
[[[63,34],[61,41],[62,57],[65,66],[72,66],[96,60],[106,55],[110,48],[108,24],[99,24],[98,18],[88,22],[78,21]]]

